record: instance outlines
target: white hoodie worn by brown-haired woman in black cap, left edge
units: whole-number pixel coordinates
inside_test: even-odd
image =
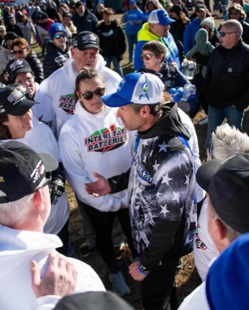
[[[0,144],[12,140],[0,140]],[[48,153],[53,155],[58,162],[61,162],[58,142],[56,141],[52,131],[46,126],[33,118],[33,128],[27,131],[24,138],[15,139],[15,141],[27,144],[37,153]],[[62,227],[66,224],[69,217],[69,207],[67,195],[64,193],[58,202],[51,206],[51,212],[44,226],[44,232],[47,234],[57,235]],[[1,306],[0,306],[1,309]]]

